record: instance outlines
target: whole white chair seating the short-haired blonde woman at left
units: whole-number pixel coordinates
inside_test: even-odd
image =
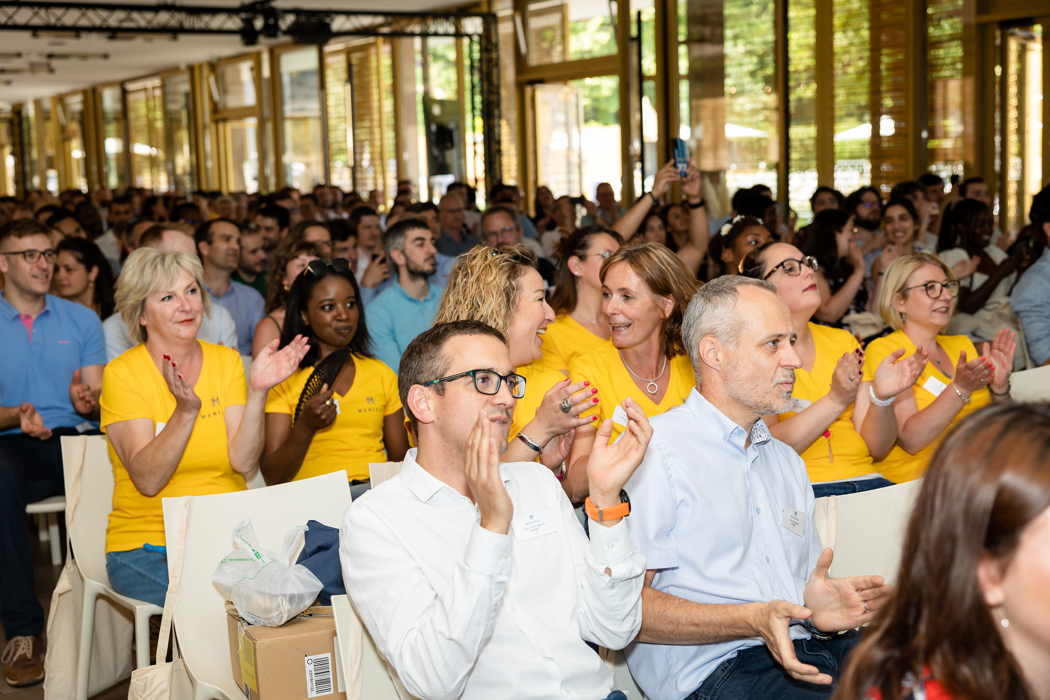
[[[113,467],[106,452],[104,436],[67,436],[62,438],[62,464],[66,493],[75,488],[74,464],[77,441],[86,440],[84,464],[80,472],[80,497],[66,514],[69,543],[77,569],[84,578],[84,612],[80,623],[80,652],[77,659],[77,700],[87,700],[87,675],[91,666],[91,637],[94,631],[94,601],[105,596],[134,615],[135,665],[149,664],[149,618],[164,609],[145,600],[121,595],[109,585],[106,573],[106,528],[113,509]]]

